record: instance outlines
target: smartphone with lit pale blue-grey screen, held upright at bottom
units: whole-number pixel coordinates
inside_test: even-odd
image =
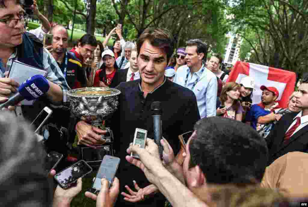
[[[101,179],[106,178],[109,181],[109,188],[113,183],[115,173],[119,167],[120,158],[110,155],[105,155],[99,170],[96,174],[95,180],[92,184],[91,192],[98,193],[102,188]]]

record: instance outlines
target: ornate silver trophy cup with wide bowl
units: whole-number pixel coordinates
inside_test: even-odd
[[[72,115],[94,127],[108,131],[106,135],[102,135],[102,138],[106,140],[106,143],[102,145],[105,151],[112,152],[114,141],[113,133],[109,127],[106,127],[105,121],[118,108],[120,93],[121,91],[117,89],[105,87],[78,88],[67,92]],[[83,156],[83,148],[81,152],[82,158],[89,160]]]

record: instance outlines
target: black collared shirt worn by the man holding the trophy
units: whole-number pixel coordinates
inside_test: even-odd
[[[121,91],[120,104],[112,116],[111,129],[115,136],[115,156],[121,159],[117,173],[121,183],[121,192],[125,191],[124,185],[133,187],[133,180],[137,181],[141,188],[149,185],[144,173],[129,164],[125,156],[127,155],[126,149],[133,142],[136,128],[146,129],[148,137],[154,137],[151,115],[153,101],[160,101],[162,104],[163,136],[168,140],[175,155],[180,150],[178,135],[193,130],[194,124],[200,119],[197,99],[193,91],[166,79],[160,87],[148,93],[144,98],[139,84],[140,79],[120,83],[116,87]],[[150,203],[154,202],[153,199],[150,200],[152,200]],[[123,198],[119,198],[118,201],[122,202]],[[152,206],[156,206],[154,203]]]

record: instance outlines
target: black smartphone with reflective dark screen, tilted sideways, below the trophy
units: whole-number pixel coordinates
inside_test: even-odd
[[[92,172],[84,160],[80,160],[54,176],[61,188],[67,189],[80,178]]]

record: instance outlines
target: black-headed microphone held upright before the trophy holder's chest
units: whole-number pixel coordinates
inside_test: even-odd
[[[163,157],[163,147],[160,144],[160,140],[162,138],[162,123],[161,123],[161,102],[160,101],[154,101],[151,104],[151,111],[152,111],[152,117],[153,117],[153,130],[154,130],[154,140],[155,143],[158,145],[160,158]]]

